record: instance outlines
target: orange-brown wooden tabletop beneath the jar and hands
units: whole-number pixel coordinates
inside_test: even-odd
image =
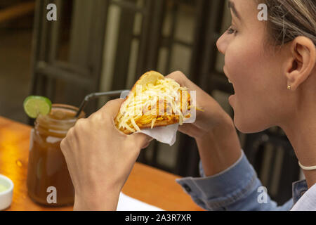
[[[14,183],[13,203],[8,210],[72,210],[72,207],[43,207],[27,195],[27,162],[31,127],[0,117],[0,174]],[[202,210],[183,192],[175,179],[159,169],[136,163],[123,193],[163,210]]]

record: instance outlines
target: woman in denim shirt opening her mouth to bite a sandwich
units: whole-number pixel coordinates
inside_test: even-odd
[[[268,6],[268,21],[258,20],[261,3]],[[316,3],[231,0],[229,5],[232,26],[217,46],[235,89],[230,97],[234,120],[181,72],[169,75],[197,91],[197,105],[205,110],[197,112],[195,124],[179,128],[197,141],[203,177],[178,183],[206,210],[316,210]],[[79,120],[62,141],[75,210],[115,210],[140,149],[151,141],[115,129],[121,101]],[[261,181],[235,130],[256,133],[275,126],[287,134],[306,178],[294,185],[294,199],[279,207],[269,197],[258,200]]]

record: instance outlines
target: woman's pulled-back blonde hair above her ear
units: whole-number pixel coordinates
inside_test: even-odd
[[[270,41],[283,45],[298,36],[311,39],[316,46],[315,0],[257,0],[268,6]]]

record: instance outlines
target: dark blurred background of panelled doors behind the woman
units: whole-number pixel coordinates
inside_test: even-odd
[[[46,19],[51,3],[55,21]],[[32,124],[22,109],[31,94],[79,106],[92,92],[131,89],[147,70],[181,70],[233,117],[216,49],[229,26],[223,0],[0,0],[0,116]],[[86,113],[109,100],[92,101]],[[272,199],[289,200],[302,175],[282,129],[238,134]],[[138,161],[199,176],[195,140],[183,134],[172,147],[153,141]]]

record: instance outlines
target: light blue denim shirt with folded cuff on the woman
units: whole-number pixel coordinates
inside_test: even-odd
[[[242,152],[234,165],[214,176],[206,177],[199,163],[202,177],[176,179],[192,200],[205,210],[288,211],[316,210],[316,184],[308,190],[306,181],[293,184],[293,198],[284,205],[270,199],[266,188]]]

